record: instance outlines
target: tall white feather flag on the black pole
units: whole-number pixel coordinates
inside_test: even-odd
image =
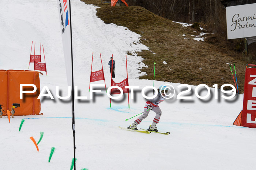
[[[68,86],[72,87],[72,58],[71,58],[71,31],[69,0],[57,0],[60,16],[60,29],[62,35],[63,51],[66,65]],[[73,89],[71,89],[73,90]]]

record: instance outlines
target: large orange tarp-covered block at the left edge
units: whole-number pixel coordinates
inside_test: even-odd
[[[41,111],[40,99],[37,99],[40,94],[39,73],[41,72],[0,70],[0,104],[4,116],[7,115],[7,110],[12,109],[12,103],[20,103],[20,107],[15,108],[15,116],[39,114]],[[20,99],[20,84],[35,84],[37,91],[23,94],[23,99]],[[33,87],[23,87],[23,91],[33,89]]]

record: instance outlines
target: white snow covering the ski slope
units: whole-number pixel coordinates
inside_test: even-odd
[[[72,113],[68,101],[56,98],[56,86],[67,95],[67,80],[56,0],[1,0],[0,11],[0,69],[27,70],[31,42],[44,45],[48,76],[40,75],[41,87],[48,86],[54,100],[41,100],[44,115],[16,116],[8,122],[0,119],[0,165],[3,170],[63,170],[70,169],[73,158]],[[142,134],[121,130],[128,127],[143,111],[146,99],[140,91],[131,99],[128,109],[127,94],[118,100],[102,93],[89,99],[91,56],[94,52],[93,71],[101,69],[102,55],[106,85],[110,86],[108,62],[114,54],[116,82],[126,78],[125,55],[127,55],[130,86],[152,86],[152,80],[139,80],[139,68],[143,59],[136,51],[148,50],[139,43],[139,35],[105,24],[97,16],[96,8],[79,0],[71,0],[72,35],[74,51],[75,86],[81,96],[88,99],[75,101],[76,123],[76,169],[89,170],[183,170],[183,169],[251,169],[254,167],[255,129],[233,126],[242,109],[243,95],[224,100],[212,98],[199,100],[192,87],[192,99],[169,99],[160,104],[162,116],[159,131],[170,135]],[[32,52],[33,54],[33,52]],[[140,63],[140,64],[139,64]],[[33,64],[30,64],[30,70]],[[94,82],[93,84],[103,83]],[[180,84],[155,81],[155,86],[171,84],[177,91]],[[219,84],[221,86],[222,84]],[[214,94],[214,89],[211,89]],[[177,93],[176,93],[177,95]],[[203,95],[203,94],[202,94]],[[18,108],[16,109],[18,112]],[[147,128],[153,121],[154,112],[139,124]],[[25,119],[19,132],[20,121]],[[44,137],[37,152],[30,137]],[[48,163],[51,147],[56,147]]]

